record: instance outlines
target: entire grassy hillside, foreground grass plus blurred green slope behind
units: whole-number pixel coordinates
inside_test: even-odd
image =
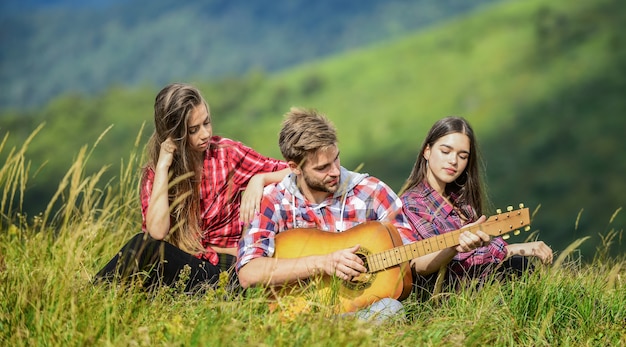
[[[2,114],[0,344],[625,345],[625,222],[614,214],[626,196],[625,15],[617,0],[509,1],[278,75],[192,81],[219,134],[266,154],[278,155],[289,106],[326,112],[342,163],[362,162],[396,189],[432,122],[465,116],[481,140],[494,205],[541,204],[533,226],[557,251],[553,265],[425,302],[411,295],[406,315],[383,324],[337,317],[325,305],[285,320],[262,290],[190,296],[179,286],[92,285],[138,230],[146,133],[135,139],[159,87],[65,95]],[[577,253],[590,245],[598,249]]]

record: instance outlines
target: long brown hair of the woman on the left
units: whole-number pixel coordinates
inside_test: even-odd
[[[203,155],[189,149],[187,122],[192,111],[206,103],[200,92],[189,85],[174,83],[164,87],[154,101],[155,131],[148,140],[147,166],[154,169],[161,143],[171,137],[176,144],[169,168],[168,199],[170,225],[168,241],[178,248],[195,254],[204,250],[201,243],[200,192]]]

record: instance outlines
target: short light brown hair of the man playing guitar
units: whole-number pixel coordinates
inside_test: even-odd
[[[324,114],[292,107],[284,116],[278,146],[287,161],[303,165],[310,153],[337,144],[337,131]]]

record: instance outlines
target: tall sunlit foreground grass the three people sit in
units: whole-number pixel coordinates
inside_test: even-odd
[[[35,133],[32,135],[35,136]],[[31,137],[32,138],[32,137]],[[140,138],[140,136],[138,137]],[[591,263],[579,240],[552,267],[481,290],[405,300],[406,317],[377,325],[324,310],[285,320],[261,290],[235,296],[223,287],[189,296],[182,286],[145,293],[94,286],[95,272],[140,228],[132,152],[117,179],[94,189],[85,175],[93,148],[80,151],[49,206],[20,213],[33,169],[26,141],[5,148],[0,169],[0,344],[4,346],[606,346],[626,343],[626,261],[608,256],[612,230]],[[135,142],[136,144],[139,141]],[[96,144],[97,145],[97,144]],[[95,147],[95,146],[94,146]],[[106,168],[103,168],[105,170]]]

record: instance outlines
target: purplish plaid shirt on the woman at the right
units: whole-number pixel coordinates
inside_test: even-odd
[[[450,198],[454,201],[458,197]],[[402,194],[401,199],[404,214],[411,222],[419,240],[458,230],[465,225],[459,213],[425,181]],[[471,206],[462,206],[461,209],[469,218],[466,224],[478,219],[476,211]],[[501,237],[493,238],[489,246],[458,253],[450,262],[448,269],[462,276],[471,266],[499,263],[506,256],[506,245]]]

